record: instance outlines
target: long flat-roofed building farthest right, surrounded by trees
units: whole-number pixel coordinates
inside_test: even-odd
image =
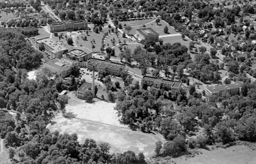
[[[234,82],[233,84],[227,84],[222,86],[209,86],[205,87],[205,95],[211,96],[216,95],[217,97],[222,96],[224,91],[227,91],[230,95],[237,95],[240,93],[240,89],[244,83],[241,81]]]

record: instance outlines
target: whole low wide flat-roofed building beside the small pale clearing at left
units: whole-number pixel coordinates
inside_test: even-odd
[[[71,60],[70,58],[53,58],[44,62],[43,67],[47,67],[53,71],[53,73],[58,73],[59,75],[66,77],[71,74],[72,65],[78,65],[78,62]]]

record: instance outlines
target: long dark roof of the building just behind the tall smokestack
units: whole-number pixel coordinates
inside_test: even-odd
[[[88,58],[88,63],[96,66],[96,65],[102,65],[100,66],[101,68],[102,67],[110,67],[110,66],[114,66],[116,67],[116,69],[119,69],[120,67],[124,68],[125,65],[122,64],[122,63],[116,63],[116,62],[112,62],[112,61],[107,61],[107,60],[101,60],[101,59],[98,59],[98,58]]]

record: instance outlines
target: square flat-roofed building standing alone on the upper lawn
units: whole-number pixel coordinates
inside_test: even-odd
[[[145,41],[159,40],[159,34],[151,28],[137,29],[136,36],[138,36],[139,40],[145,40]]]

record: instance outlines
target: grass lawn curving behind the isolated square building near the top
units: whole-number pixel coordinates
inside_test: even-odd
[[[129,34],[136,34],[136,30],[137,29],[142,29],[145,27],[142,27],[143,24],[140,24],[141,26],[139,27],[133,27],[130,31]],[[153,21],[152,23],[149,23],[148,25],[146,25],[146,28],[152,28],[153,30],[155,30],[157,33],[159,33],[159,35],[166,35],[164,33],[164,27],[167,26],[168,27],[168,32],[169,34],[179,34],[178,32],[176,32],[170,25],[168,25],[168,23],[165,23],[164,21],[160,21],[159,25],[157,25],[157,23],[155,23],[155,21]],[[128,34],[128,31],[124,29],[123,27],[123,31],[125,32],[125,34]],[[181,38],[181,37],[180,37]]]

